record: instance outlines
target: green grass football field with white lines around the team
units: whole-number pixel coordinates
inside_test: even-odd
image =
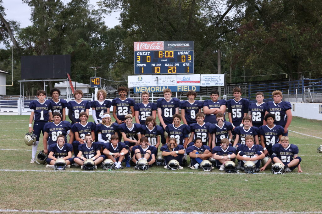
[[[303,173],[246,175],[186,167],[54,171],[29,163],[28,118],[0,116],[0,213],[322,213],[322,121],[293,117],[289,127]]]

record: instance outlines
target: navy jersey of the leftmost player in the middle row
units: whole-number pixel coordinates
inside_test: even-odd
[[[48,133],[48,145],[55,144],[57,141],[57,136],[62,134],[67,136],[67,131],[71,129],[71,123],[68,121],[61,121],[59,124],[54,124],[54,122],[46,123],[44,126],[44,131]],[[65,139],[66,141],[66,139]]]

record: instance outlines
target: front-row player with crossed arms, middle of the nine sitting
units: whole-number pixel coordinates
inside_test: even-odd
[[[165,159],[165,163],[166,163],[166,166],[164,167],[165,169],[167,169],[167,165],[169,161],[173,159],[179,162],[180,164],[179,169],[183,169],[181,165],[182,165],[183,154],[185,154],[185,150],[183,148],[183,145],[177,144],[177,140],[175,138],[173,137],[170,138],[169,142],[163,147],[161,147],[160,151],[162,151],[162,155]]]

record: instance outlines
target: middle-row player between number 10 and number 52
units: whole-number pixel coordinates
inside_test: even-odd
[[[166,143],[173,137],[177,139],[178,145],[184,145],[188,141],[190,127],[186,124],[181,124],[181,115],[175,114],[173,116],[173,124],[166,126],[166,133],[168,134]]]

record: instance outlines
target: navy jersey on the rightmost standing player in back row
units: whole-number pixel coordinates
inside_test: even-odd
[[[292,109],[290,102],[281,101],[275,104],[274,101],[267,102],[268,112],[275,115],[274,124],[285,127],[287,116],[286,111]]]

